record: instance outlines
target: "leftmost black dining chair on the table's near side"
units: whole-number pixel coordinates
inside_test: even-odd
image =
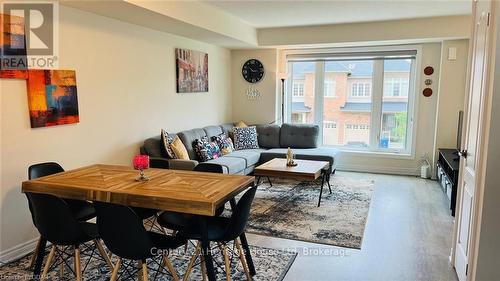
[[[43,273],[40,280],[45,280],[50,269],[58,265],[64,269],[67,260],[67,248],[74,248],[74,269],[76,280],[82,280],[82,268],[80,256],[88,255],[81,251],[81,246],[87,242],[93,241],[99,251],[101,258],[110,268],[113,267],[111,261],[99,241],[97,225],[94,223],[79,221],[76,219],[70,205],[63,199],[49,194],[26,193],[29,204],[33,211],[33,220],[41,236],[52,243],[50,254],[47,257]],[[85,245],[86,246],[86,245]],[[89,255],[89,262],[93,258],[94,250]],[[56,256],[57,255],[57,256]],[[53,263],[53,259],[59,260],[59,263]],[[62,271],[62,270],[61,270]]]

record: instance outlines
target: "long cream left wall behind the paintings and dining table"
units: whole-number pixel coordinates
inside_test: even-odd
[[[174,48],[209,54],[209,93],[177,94]],[[1,82],[0,251],[36,237],[21,182],[27,167],[57,161],[128,165],[141,142],[231,120],[230,51],[60,7],[60,68],[77,75],[80,123],[31,129],[25,81]]]

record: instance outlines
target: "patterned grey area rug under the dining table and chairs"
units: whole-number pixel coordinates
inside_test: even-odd
[[[233,251],[233,245],[228,245],[229,254],[231,257],[231,276],[232,280],[246,280],[245,273],[243,271],[243,267],[237,258],[237,251]],[[48,256],[49,247],[47,247],[47,253],[45,257]],[[175,250],[170,255],[170,260],[174,265],[174,268],[177,270],[179,278],[182,279],[184,273],[186,272],[186,268],[188,266],[189,260],[194,252],[194,245],[190,244],[187,251],[184,252],[184,248],[181,247],[178,250]],[[87,254],[91,253],[91,249],[86,251]],[[292,265],[297,253],[291,251],[277,250],[277,249],[269,249],[264,247],[250,246],[250,251],[252,253],[252,257],[254,260],[255,269],[257,274],[253,277],[253,280],[276,280],[281,281],[285,277],[288,269]],[[214,266],[216,270],[217,280],[225,280],[226,273],[224,271],[224,261],[220,251],[215,247],[212,249],[213,257],[214,257]],[[95,254],[94,254],[95,255]],[[0,280],[32,280],[32,274],[27,270],[27,267],[30,262],[31,255],[27,255],[21,259],[15,260],[8,264],[0,266]],[[160,261],[161,256],[156,259],[148,260],[148,268],[149,268],[149,280],[172,280],[172,277],[166,273],[166,270],[163,270],[162,274],[156,274],[156,269],[158,269],[158,262]],[[85,266],[85,263],[88,261],[88,257],[82,255],[82,268]],[[116,263],[116,258],[112,258],[113,264]],[[128,261],[125,261],[128,263]],[[44,263],[45,264],[45,263]],[[73,265],[73,258],[68,260],[69,265]],[[132,266],[136,267],[136,263],[132,263]],[[49,272],[48,280],[75,280],[74,274],[72,273],[69,267],[65,267],[64,275],[61,277],[60,275],[60,267],[55,266],[55,269]],[[129,277],[126,273],[126,270],[122,269],[120,271],[119,280],[137,280],[136,274],[133,274],[133,278]],[[83,280],[89,281],[104,281],[109,280],[111,277],[111,271],[108,266],[101,260],[93,258],[90,260],[84,275],[82,276]],[[201,267],[199,263],[199,259],[195,263],[193,271],[189,275],[188,280],[202,280],[201,275]],[[34,279],[33,279],[34,280]]]

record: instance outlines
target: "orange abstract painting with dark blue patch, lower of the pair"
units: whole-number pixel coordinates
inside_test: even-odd
[[[79,122],[73,70],[28,70],[31,128]]]

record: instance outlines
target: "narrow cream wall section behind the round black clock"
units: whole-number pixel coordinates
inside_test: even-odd
[[[243,79],[241,67],[251,58],[262,62],[265,69],[264,78],[255,84]],[[277,90],[277,50],[253,49],[231,51],[231,89],[233,95],[233,120],[243,120],[247,124],[266,124],[276,120]],[[261,98],[249,100],[246,96],[248,89],[257,89]]]

